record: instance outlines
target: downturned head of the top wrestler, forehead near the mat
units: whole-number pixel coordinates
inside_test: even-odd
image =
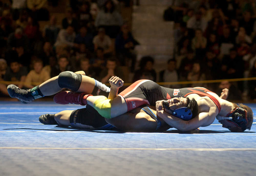
[[[232,108],[233,110],[231,112],[235,111],[238,107],[241,107],[242,109],[245,110],[245,113],[244,115],[241,114],[239,118],[243,118],[243,119],[239,119],[238,121],[237,119],[234,120],[233,118],[233,120],[225,119],[225,120],[220,120],[219,122],[222,124],[223,128],[228,128],[232,132],[243,132],[246,129],[250,130],[253,122],[253,112],[251,108],[249,108],[248,106],[242,103],[239,103],[238,105],[233,103],[233,108]]]

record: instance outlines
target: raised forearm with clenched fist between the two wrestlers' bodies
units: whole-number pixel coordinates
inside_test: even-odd
[[[117,96],[119,88],[124,85],[124,81],[117,76],[112,76],[109,79],[109,84],[111,87],[108,99],[112,100]]]

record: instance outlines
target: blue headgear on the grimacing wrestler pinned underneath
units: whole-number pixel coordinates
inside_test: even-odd
[[[178,96],[178,97],[183,97],[183,96]],[[186,97],[184,97],[186,98]],[[192,111],[190,109],[190,106],[191,106],[191,101],[189,100],[189,103],[188,103],[188,107],[182,107],[182,108],[178,108],[178,109],[175,109],[175,110],[171,110],[170,107],[169,107],[169,103],[167,100],[163,101],[162,102],[163,104],[163,107],[165,109],[168,109],[169,111],[172,112],[172,115],[177,117],[177,118],[180,118],[182,120],[190,120],[192,118]]]

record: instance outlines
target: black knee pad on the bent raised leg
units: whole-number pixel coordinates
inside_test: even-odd
[[[58,78],[60,88],[68,88],[77,91],[82,82],[82,75],[70,71],[61,72]]]

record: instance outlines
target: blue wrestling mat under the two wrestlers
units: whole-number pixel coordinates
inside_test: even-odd
[[[256,114],[256,104],[246,104]],[[46,113],[83,108],[0,102],[0,175],[255,176],[256,125],[233,133],[217,120],[191,133],[125,133],[43,125]]]

